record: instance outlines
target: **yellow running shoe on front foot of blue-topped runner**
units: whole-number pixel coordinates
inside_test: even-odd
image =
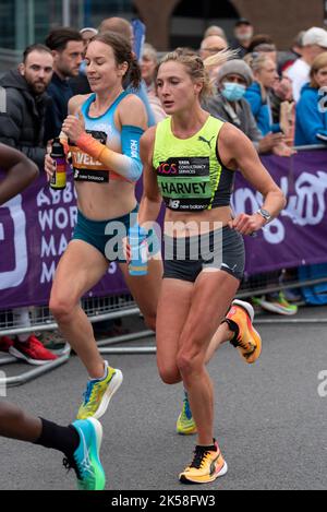
[[[84,401],[77,413],[77,419],[90,417],[99,419],[104,416],[111,397],[122,383],[122,372],[108,366],[107,361],[105,364],[107,377],[102,380],[89,380],[87,382],[86,391],[83,394]]]

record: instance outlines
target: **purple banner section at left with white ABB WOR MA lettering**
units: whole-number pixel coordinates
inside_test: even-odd
[[[48,302],[76,217],[72,176],[64,190],[52,190],[41,176],[23,194],[0,206],[0,309]],[[114,262],[88,296],[108,295],[108,290],[126,291]]]

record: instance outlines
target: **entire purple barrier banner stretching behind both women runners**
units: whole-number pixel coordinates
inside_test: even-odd
[[[245,237],[246,274],[326,262],[326,152],[302,152],[291,158],[268,156],[263,163],[286,193],[288,204],[255,238]],[[262,205],[261,194],[240,172],[232,205],[235,213],[252,213]],[[72,182],[64,191],[53,191],[45,176],[0,207],[0,309],[48,302],[76,213]],[[126,291],[113,262],[87,297]]]

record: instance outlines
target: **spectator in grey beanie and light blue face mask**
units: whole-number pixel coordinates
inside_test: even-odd
[[[282,141],[281,133],[263,136],[256,126],[244,94],[253,83],[251,68],[241,59],[229,60],[218,72],[217,93],[204,105],[211,116],[221,118],[239,128],[253,142],[258,153],[270,153]]]

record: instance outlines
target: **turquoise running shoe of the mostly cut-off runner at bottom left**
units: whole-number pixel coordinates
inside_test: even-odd
[[[80,444],[72,459],[63,460],[63,465],[75,471],[78,490],[104,490],[106,475],[99,459],[101,424],[95,418],[88,418],[74,421],[72,427],[80,436]]]

